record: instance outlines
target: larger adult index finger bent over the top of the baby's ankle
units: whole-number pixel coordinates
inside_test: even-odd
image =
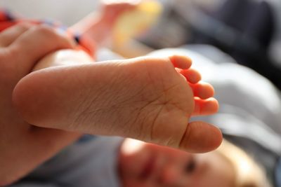
[[[22,78],[32,71],[34,64],[48,53],[63,48],[74,48],[74,41],[55,32],[51,27],[39,25],[28,29],[9,47],[13,60],[11,65],[17,69],[17,77]]]

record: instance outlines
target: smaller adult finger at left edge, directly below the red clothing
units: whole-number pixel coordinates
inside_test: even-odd
[[[32,23],[29,22],[22,22],[18,23],[17,25],[5,29],[3,32],[0,33],[0,47],[8,47],[18,39],[18,37],[26,32],[31,27],[34,27]]]

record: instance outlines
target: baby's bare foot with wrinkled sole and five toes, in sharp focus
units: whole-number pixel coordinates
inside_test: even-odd
[[[211,85],[183,56],[55,67],[18,83],[13,101],[40,127],[117,135],[190,152],[211,151],[221,132],[190,116],[215,113]]]

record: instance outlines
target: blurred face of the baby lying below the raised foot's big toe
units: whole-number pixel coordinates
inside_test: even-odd
[[[232,187],[233,166],[216,151],[190,154],[127,139],[119,171],[124,187]]]

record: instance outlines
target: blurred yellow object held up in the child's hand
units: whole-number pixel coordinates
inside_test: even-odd
[[[160,13],[162,5],[153,0],[142,1],[136,9],[122,13],[113,30],[114,42],[124,44],[133,36],[145,32],[157,21]]]

